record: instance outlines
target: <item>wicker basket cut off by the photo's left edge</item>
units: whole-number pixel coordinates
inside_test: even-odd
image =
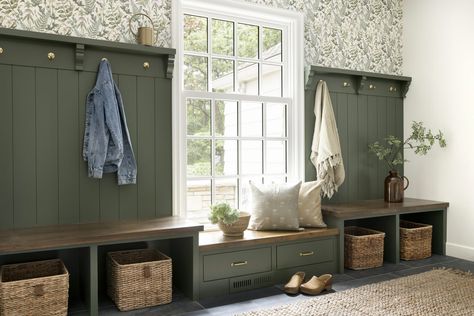
[[[69,273],[59,259],[0,270],[0,315],[67,315]]]

